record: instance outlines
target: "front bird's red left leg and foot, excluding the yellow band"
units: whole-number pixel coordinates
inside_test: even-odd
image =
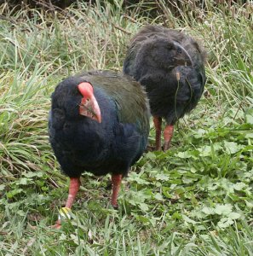
[[[71,177],[70,178],[70,184],[68,189],[68,197],[66,200],[66,208],[71,208],[73,201],[76,198],[76,195],[78,194],[78,190],[80,188],[80,178],[79,177]],[[60,229],[60,219],[56,221],[56,224],[52,226],[55,229]]]

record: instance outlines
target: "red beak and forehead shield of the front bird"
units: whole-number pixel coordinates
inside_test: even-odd
[[[78,90],[83,96],[79,113],[101,123],[101,109],[94,96],[93,86],[88,82],[82,82],[78,84]]]

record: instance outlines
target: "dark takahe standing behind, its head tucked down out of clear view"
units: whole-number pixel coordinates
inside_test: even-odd
[[[191,37],[163,26],[145,26],[132,38],[124,73],[147,90],[156,130],[156,149],[170,148],[175,122],[196,107],[204,90],[204,49]]]

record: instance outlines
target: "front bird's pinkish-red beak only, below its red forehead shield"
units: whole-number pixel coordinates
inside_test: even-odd
[[[90,96],[89,101],[83,97],[79,113],[101,123],[101,109],[95,96]]]

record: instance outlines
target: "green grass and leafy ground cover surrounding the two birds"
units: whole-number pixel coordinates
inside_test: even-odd
[[[160,0],[152,19],[141,3],[117,3],[55,14],[1,6],[10,20],[0,20],[0,255],[252,255],[249,7],[208,3],[194,13],[186,4],[179,19]],[[147,23],[203,42],[204,96],[177,125],[168,152],[144,154],[132,167],[118,211],[109,206],[109,177],[85,173],[72,220],[51,230],[68,180],[49,146],[50,94],[82,69],[121,70],[129,38]]]

